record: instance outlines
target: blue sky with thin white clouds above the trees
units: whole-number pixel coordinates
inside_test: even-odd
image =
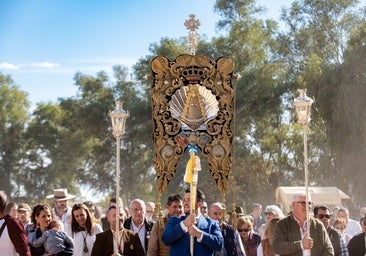
[[[289,2],[258,4],[277,19]],[[187,36],[190,14],[201,23],[201,37],[217,36],[213,6],[213,0],[1,0],[0,72],[28,93],[33,108],[75,96],[77,72],[112,74],[114,65],[132,71],[152,43]]]

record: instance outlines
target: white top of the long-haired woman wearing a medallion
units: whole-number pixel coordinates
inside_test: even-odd
[[[74,240],[74,256],[90,256],[93,249],[93,244],[97,234],[103,232],[102,227],[99,224],[95,224],[93,235],[88,234],[86,231],[80,231],[73,234]],[[88,252],[84,252],[84,237]]]

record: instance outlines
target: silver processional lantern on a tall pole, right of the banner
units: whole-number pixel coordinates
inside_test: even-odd
[[[306,195],[306,230],[310,236],[310,213],[309,213],[309,174],[308,174],[308,145],[307,128],[310,122],[311,104],[314,100],[306,96],[306,89],[299,89],[299,97],[294,100],[294,107],[297,115],[297,122],[304,129],[304,172],[305,172],[305,195]],[[310,255],[310,252],[309,252]]]

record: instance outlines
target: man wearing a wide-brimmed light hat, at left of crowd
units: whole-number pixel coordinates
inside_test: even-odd
[[[52,208],[53,218],[60,220],[64,225],[63,230],[71,236],[71,207],[69,207],[68,200],[74,199],[76,196],[67,193],[66,188],[58,188],[53,190],[52,195],[46,198],[53,200],[55,207]]]

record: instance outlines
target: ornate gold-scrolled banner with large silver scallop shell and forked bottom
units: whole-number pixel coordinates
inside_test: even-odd
[[[234,63],[183,54],[151,61],[156,186],[162,194],[186,150],[200,150],[218,189],[226,192],[232,163]]]

